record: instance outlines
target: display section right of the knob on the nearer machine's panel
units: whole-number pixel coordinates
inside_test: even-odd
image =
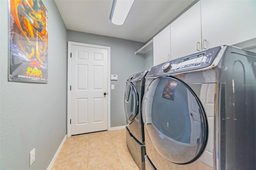
[[[181,59],[179,61],[178,65],[176,66],[175,70],[177,70],[177,69],[185,69],[185,68],[192,67],[192,66],[199,66],[200,63],[202,62],[204,54],[205,53]]]

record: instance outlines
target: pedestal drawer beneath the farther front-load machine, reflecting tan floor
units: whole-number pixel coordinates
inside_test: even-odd
[[[136,163],[136,165],[141,169],[145,170],[145,146],[144,144],[141,144],[136,140],[136,138],[133,137],[132,133],[128,130],[126,127],[126,144],[128,147],[128,150]]]

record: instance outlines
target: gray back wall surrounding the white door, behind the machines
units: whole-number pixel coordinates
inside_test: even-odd
[[[134,54],[134,51],[140,49],[144,43],[71,30],[68,30],[68,41],[111,48],[110,72],[118,75],[118,81],[111,81],[111,84],[115,85],[115,89],[111,90],[110,96],[110,127],[126,125],[124,112],[125,82],[130,75],[144,71],[144,58]]]

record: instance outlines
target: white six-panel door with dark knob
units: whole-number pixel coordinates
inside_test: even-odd
[[[71,135],[107,130],[108,50],[71,45],[70,85]]]

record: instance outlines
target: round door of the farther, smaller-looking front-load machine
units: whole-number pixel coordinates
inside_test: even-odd
[[[138,114],[138,94],[132,83],[127,83],[124,93],[124,109],[129,121],[133,121]]]

